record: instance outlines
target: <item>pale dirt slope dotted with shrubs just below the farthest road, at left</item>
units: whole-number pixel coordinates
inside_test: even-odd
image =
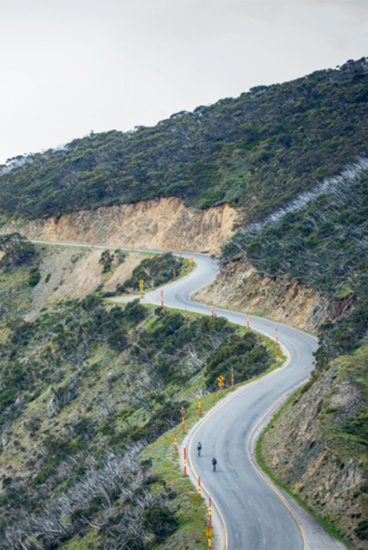
[[[0,250],[7,239],[13,245],[17,243],[17,238],[11,235],[13,239],[0,236]],[[0,286],[0,319],[3,321],[14,315],[27,322],[34,321],[41,312],[56,307],[61,300],[83,299],[93,292],[103,297],[114,296],[117,291],[120,294],[138,292],[142,278],[147,289],[152,279],[156,287],[173,280],[174,269],[177,277],[189,271],[187,260],[170,254],[156,257],[120,249],[104,253],[101,249],[58,245],[37,246],[31,250],[34,263],[31,271],[24,265],[14,266],[7,262],[6,256],[0,260],[0,269],[2,267],[8,274],[1,277]],[[32,285],[26,285],[27,280]]]

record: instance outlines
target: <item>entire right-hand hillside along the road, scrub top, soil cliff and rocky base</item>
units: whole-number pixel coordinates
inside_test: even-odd
[[[368,548],[368,169],[302,199],[236,234],[202,297],[318,331],[316,370],[259,458],[335,533]]]

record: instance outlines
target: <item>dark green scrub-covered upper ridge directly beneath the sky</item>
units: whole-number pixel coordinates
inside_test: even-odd
[[[248,220],[365,155],[368,63],[348,61],[293,82],[180,112],[155,127],[75,139],[1,169],[4,211],[26,218],[179,196],[230,201]]]

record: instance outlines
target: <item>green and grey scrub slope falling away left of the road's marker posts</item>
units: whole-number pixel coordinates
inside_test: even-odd
[[[221,318],[107,306],[99,293],[25,323],[32,265],[0,272],[18,289],[0,326],[0,548],[157,548],[187,505],[142,450],[218,373],[230,384],[228,349],[237,382],[274,350]]]

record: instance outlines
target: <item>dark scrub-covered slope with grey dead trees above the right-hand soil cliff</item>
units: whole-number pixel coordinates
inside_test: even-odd
[[[295,279],[330,302],[354,304],[351,315],[327,324],[318,359],[354,350],[368,328],[368,169],[337,178],[315,200],[245,228],[224,248],[223,264],[246,256],[262,275]],[[243,250],[244,252],[239,252]],[[323,351],[322,351],[323,349]]]

